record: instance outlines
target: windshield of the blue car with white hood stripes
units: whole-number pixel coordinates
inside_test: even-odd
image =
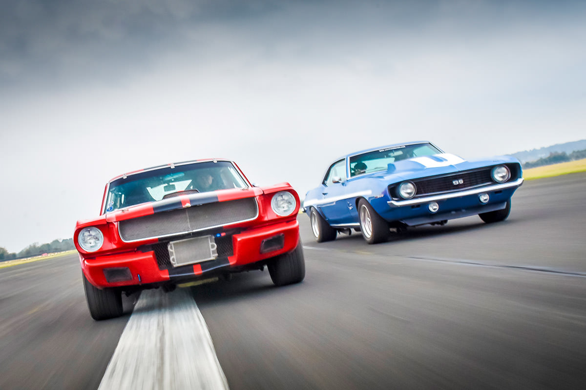
[[[394,146],[386,149],[368,151],[350,157],[350,177],[366,173],[386,171],[389,164],[407,158],[433,156],[441,150],[430,143]]]

